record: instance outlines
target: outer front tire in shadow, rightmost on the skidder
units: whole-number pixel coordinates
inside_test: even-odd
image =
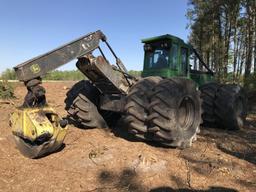
[[[242,128],[247,115],[247,97],[244,89],[235,84],[220,86],[216,92],[215,115],[219,128]]]

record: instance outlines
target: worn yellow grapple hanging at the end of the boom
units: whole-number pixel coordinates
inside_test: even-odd
[[[29,158],[60,149],[67,132],[66,125],[51,107],[17,108],[10,117],[17,148]]]

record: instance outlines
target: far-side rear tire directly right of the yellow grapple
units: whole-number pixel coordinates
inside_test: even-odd
[[[102,114],[111,119],[111,112],[98,109],[100,92],[87,80],[76,83],[65,99],[69,120],[79,128],[108,127]],[[102,114],[101,114],[102,113]]]

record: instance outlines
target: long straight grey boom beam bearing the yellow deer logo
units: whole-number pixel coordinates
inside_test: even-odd
[[[73,59],[86,55],[99,47],[100,40],[106,41],[100,31],[89,33],[48,53],[35,57],[14,67],[20,81],[29,81],[44,76]]]

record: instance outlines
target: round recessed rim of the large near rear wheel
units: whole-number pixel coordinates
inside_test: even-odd
[[[178,122],[182,129],[189,129],[195,118],[195,104],[190,97],[184,97],[178,108]]]

